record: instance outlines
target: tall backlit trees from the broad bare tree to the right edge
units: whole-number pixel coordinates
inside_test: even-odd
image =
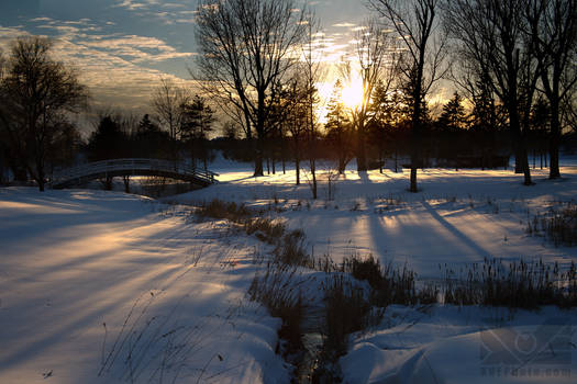
[[[408,153],[412,192],[430,158],[482,168],[509,153],[531,185],[529,154],[541,155],[544,145],[550,178],[561,177],[563,132],[575,127],[575,0],[368,1],[373,18],[357,29],[353,58],[343,59],[335,86],[337,93],[358,78],[363,94],[355,105],[335,94],[324,128],[314,113],[324,42],[313,12],[292,0],[249,4],[201,1],[195,76],[256,142],[255,176],[263,174],[267,143],[282,132],[278,125],[287,125],[295,147],[302,137],[313,184],[311,148],[323,136],[334,143],[340,170],[354,157],[366,171],[390,147]],[[431,115],[441,79],[465,95],[468,115],[457,95]]]

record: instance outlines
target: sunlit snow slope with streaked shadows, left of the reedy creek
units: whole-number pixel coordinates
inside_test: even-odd
[[[279,323],[245,298],[257,244],[159,207],[0,190],[0,383],[286,380]]]

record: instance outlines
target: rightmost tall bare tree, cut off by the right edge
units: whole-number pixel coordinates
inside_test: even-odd
[[[562,104],[577,82],[577,2],[530,0],[528,32],[550,103],[550,179],[561,177]]]

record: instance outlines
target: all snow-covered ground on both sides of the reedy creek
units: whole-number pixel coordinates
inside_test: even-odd
[[[348,171],[329,199],[321,174],[318,201],[292,170],[254,179],[249,165],[219,161],[219,184],[166,200],[270,207],[304,229],[315,255],[373,253],[425,280],[442,275],[439,264],[488,256],[565,267],[577,248],[525,227],[577,196],[568,160],[564,179],[536,170],[529,188],[511,171],[426,170],[418,194],[407,173]],[[269,249],[188,210],[119,192],[0,189],[0,383],[288,382],[275,353],[280,320],[245,295],[262,268],[255,255]],[[353,335],[341,366],[348,383],[572,383],[575,326],[575,308],[391,306],[379,327]]]

